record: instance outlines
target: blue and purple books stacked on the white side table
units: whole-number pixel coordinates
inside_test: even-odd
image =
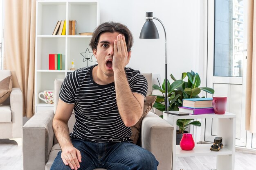
[[[212,100],[213,98],[184,98],[179,111],[192,115],[214,113]]]

